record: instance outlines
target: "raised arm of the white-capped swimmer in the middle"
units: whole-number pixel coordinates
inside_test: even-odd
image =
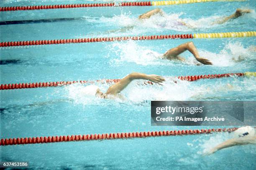
[[[127,76],[125,76],[123,79],[120,80],[120,82],[115,83],[114,85],[110,86],[108,88],[108,91],[106,92],[107,95],[117,95],[120,93],[125,87],[128,86],[128,84],[136,79],[143,79],[143,80],[149,80],[155,83],[163,82],[164,77],[158,76],[158,75],[146,75],[143,73],[133,72]]]

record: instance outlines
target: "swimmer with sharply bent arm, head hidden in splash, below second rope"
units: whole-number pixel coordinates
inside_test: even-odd
[[[182,45],[179,45],[177,47],[174,47],[166,51],[162,56],[162,58],[167,60],[180,60],[184,62],[185,59],[183,57],[180,57],[179,55],[186,50],[191,52],[198,62],[201,62],[202,64],[205,64],[205,65],[212,65],[212,62],[210,62],[205,58],[200,57],[200,55],[198,54],[197,48],[195,47],[193,42],[186,42]]]

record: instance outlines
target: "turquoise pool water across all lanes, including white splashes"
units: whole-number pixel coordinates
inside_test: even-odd
[[[0,6],[45,5],[109,1],[3,0]],[[136,18],[154,7],[102,7],[0,12],[0,21],[76,18],[62,22],[0,25],[0,41],[112,37],[178,33],[255,31],[256,3],[207,2],[159,6],[164,15],[141,22]],[[214,20],[236,8],[252,13],[221,25]],[[193,28],[177,26],[184,20]],[[217,127],[151,126],[151,100],[256,100],[255,77],[230,77],[177,84],[170,76],[221,74],[256,70],[255,37],[190,40],[98,42],[0,49],[0,84],[121,78],[131,72],[166,77],[164,86],[138,86],[122,93],[127,100],[88,98],[85,85],[1,90],[1,138],[90,133],[181,130]],[[185,63],[158,59],[181,43],[193,41],[213,65],[197,66],[189,52]],[[109,85],[99,84],[102,91]],[[230,138],[210,134],[1,146],[1,161],[29,161],[31,169],[255,169],[253,145],[205,150]]]

